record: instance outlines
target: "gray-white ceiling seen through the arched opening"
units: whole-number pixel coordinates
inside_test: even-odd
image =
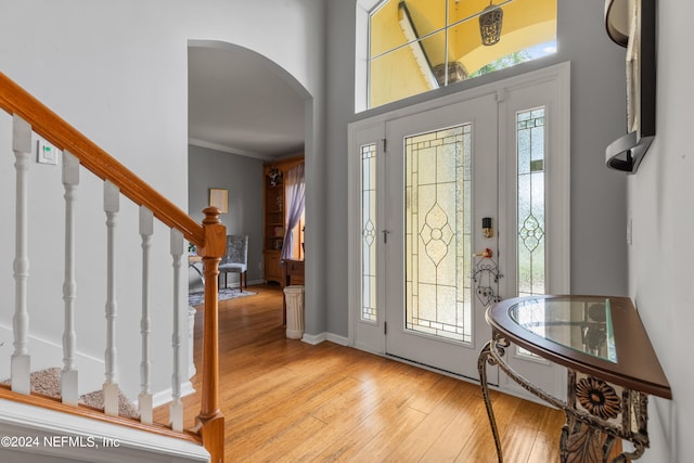
[[[241,47],[189,47],[189,143],[272,159],[304,150],[304,98]]]

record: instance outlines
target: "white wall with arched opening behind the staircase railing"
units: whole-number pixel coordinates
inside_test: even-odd
[[[168,1],[0,0],[0,70],[187,210],[188,41],[236,43],[278,63],[322,102],[323,11],[312,0]],[[320,120],[320,119],[319,119]],[[320,123],[318,128],[320,128]],[[14,248],[10,118],[0,115],[0,324],[11,324]],[[311,150],[322,136],[310,133]],[[307,158],[314,156],[307,153]],[[31,165],[31,329],[60,344],[62,330],[62,188],[60,168]],[[316,175],[316,173],[313,173]],[[307,180],[307,182],[309,182]],[[78,349],[103,356],[105,217],[100,182],[82,175],[78,198]],[[313,206],[313,214],[317,206]],[[118,245],[119,369],[127,394],[139,389],[139,247],[137,208],[121,202]],[[320,234],[320,233],[319,233]],[[168,232],[155,230],[153,253],[154,390],[170,384]],[[319,243],[317,240],[316,243]],[[310,246],[316,244],[310,244]],[[181,307],[187,309],[184,301]],[[307,305],[309,300],[307,300]],[[312,307],[318,307],[311,300]],[[309,308],[307,307],[307,311]],[[310,309],[314,310],[314,309]],[[183,323],[185,325],[185,323]],[[0,339],[11,343],[12,339]],[[185,346],[184,346],[185,347]],[[183,348],[183,351],[187,351]],[[5,372],[0,372],[3,376]],[[134,374],[134,376],[132,375]]]

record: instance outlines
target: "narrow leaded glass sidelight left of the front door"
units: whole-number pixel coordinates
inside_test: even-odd
[[[376,321],[376,145],[361,146],[361,320]]]

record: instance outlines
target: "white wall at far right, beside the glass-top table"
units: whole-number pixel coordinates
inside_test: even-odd
[[[644,462],[687,462],[694,454],[694,152],[691,91],[693,40],[682,31],[694,14],[686,0],[658,2],[656,138],[629,178],[629,293],[672,387],[653,400],[652,449]]]

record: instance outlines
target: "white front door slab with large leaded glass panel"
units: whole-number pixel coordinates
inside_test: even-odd
[[[493,94],[391,120],[386,127],[386,353],[476,377],[491,332],[477,297],[475,254],[498,246]]]

